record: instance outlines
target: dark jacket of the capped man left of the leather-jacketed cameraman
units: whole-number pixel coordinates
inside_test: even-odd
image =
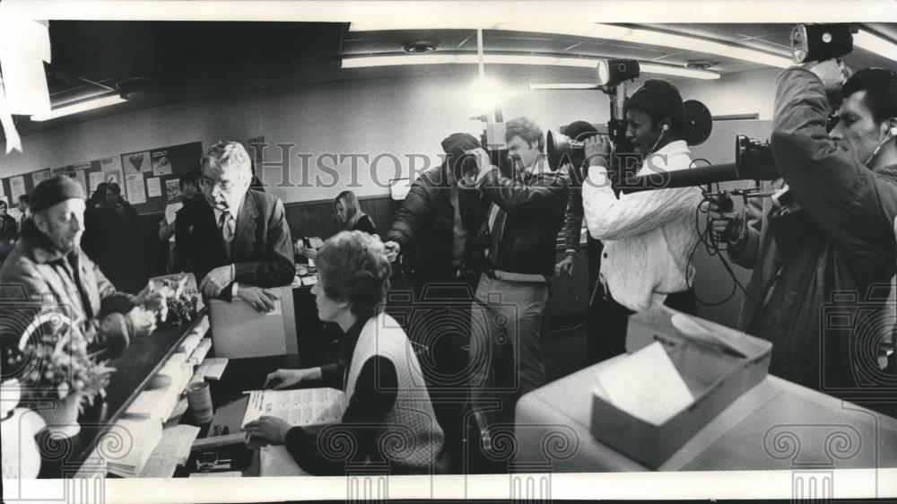
[[[414,180],[387,233],[386,240],[401,247],[405,274],[418,294],[428,282],[452,282],[456,278],[452,265],[455,205],[446,169],[443,163]],[[461,222],[467,230],[463,269],[475,269],[470,256],[482,222],[478,196],[472,188],[459,189],[457,193]]]

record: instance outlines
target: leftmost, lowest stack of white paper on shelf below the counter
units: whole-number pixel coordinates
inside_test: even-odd
[[[159,444],[162,424],[154,419],[136,421],[121,419],[115,423],[107,436],[120,436],[124,439],[121,444],[124,453],[109,456],[106,460],[109,473],[122,477],[135,477],[143,472],[146,461]],[[113,439],[115,438],[105,442],[111,446]],[[100,439],[98,445],[103,442],[104,440]]]

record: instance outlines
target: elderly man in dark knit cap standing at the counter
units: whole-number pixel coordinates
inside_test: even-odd
[[[116,291],[84,254],[79,246],[84,199],[83,187],[65,175],[34,189],[31,219],[0,269],[0,299],[39,302],[47,310],[64,307],[93,347],[118,352],[152,331],[156,314],[144,306],[156,295],[146,289],[137,296]]]

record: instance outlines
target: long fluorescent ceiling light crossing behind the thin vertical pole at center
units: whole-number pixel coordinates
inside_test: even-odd
[[[531,56],[531,55],[483,55],[487,65],[547,65],[573,66],[595,69],[598,60],[585,57]],[[343,68],[364,68],[369,66],[405,66],[405,65],[476,65],[479,57],[475,54],[428,54],[428,55],[386,55],[344,57]],[[678,66],[653,65],[640,63],[641,71],[646,74],[674,75],[691,77],[692,79],[714,80],[719,78],[716,72],[694,70]]]

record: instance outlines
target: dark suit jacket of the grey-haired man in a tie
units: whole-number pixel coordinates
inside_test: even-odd
[[[273,195],[249,189],[237,213],[231,257],[212,207],[203,199],[178,211],[175,221],[178,253],[191,265],[196,282],[222,265],[234,265],[235,282],[257,287],[288,285],[296,274],[290,228],[283,202]],[[222,291],[230,300],[231,287]]]

